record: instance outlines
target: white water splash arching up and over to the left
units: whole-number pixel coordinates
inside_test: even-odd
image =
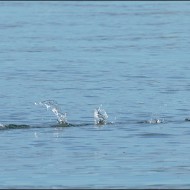
[[[57,102],[54,100],[45,100],[39,103],[35,103],[35,105],[40,105],[40,106],[45,106],[47,110],[51,109],[51,111],[55,114],[57,117],[57,121],[59,124],[66,124],[68,125],[67,122],[67,117],[66,117],[66,112],[63,114],[61,113],[61,109],[58,106]]]

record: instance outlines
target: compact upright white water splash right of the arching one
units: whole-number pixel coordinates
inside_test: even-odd
[[[96,125],[105,125],[107,123],[108,115],[101,107],[102,105],[94,110],[94,122]]]

